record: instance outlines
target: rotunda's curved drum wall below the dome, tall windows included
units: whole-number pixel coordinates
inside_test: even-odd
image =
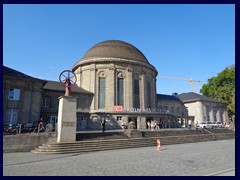
[[[77,85],[94,94],[91,112],[113,112],[115,105],[128,108],[156,107],[156,73],[143,66],[110,61],[75,70]]]

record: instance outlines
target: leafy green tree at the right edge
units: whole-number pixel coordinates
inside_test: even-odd
[[[228,103],[228,117],[235,120],[235,65],[226,67],[216,77],[208,79],[200,92],[204,96]]]

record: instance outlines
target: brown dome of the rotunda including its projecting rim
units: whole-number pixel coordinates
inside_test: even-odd
[[[157,74],[157,70],[151,65],[143,53],[133,45],[118,41],[103,41],[90,48],[72,68],[75,71],[78,67],[93,63],[128,63],[133,66],[139,65],[150,68]]]

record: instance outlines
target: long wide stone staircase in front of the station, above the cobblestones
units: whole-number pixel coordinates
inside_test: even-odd
[[[129,138],[124,132],[109,133],[79,133],[76,142],[48,142],[31,152],[39,154],[82,153],[103,150],[125,149],[156,146],[156,140],[161,145],[194,143],[222,139],[234,139],[235,134],[230,130],[179,130],[179,131],[148,131],[142,132],[142,138]]]

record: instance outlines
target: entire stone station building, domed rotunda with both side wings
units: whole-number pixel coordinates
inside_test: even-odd
[[[156,92],[157,70],[133,45],[109,40],[90,48],[72,68],[77,77],[77,130],[121,128],[134,122],[146,129],[148,121],[162,128],[186,127],[189,119],[228,122],[227,104],[197,93],[164,95]],[[58,97],[65,87],[4,67],[4,124],[29,123],[43,117],[55,125]]]

